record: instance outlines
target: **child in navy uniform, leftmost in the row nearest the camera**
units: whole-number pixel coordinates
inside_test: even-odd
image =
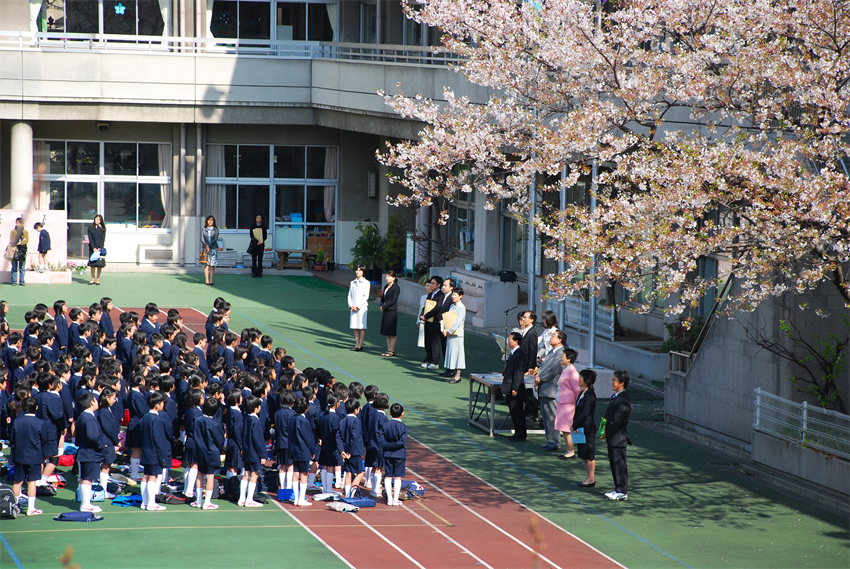
[[[45,421],[35,416],[38,404],[32,397],[25,397],[21,403],[18,417],[9,431],[12,443],[12,462],[15,464],[15,482],[12,486],[15,496],[20,498],[21,487],[27,483],[27,515],[42,514],[35,507],[36,482],[41,480],[41,464],[44,460],[44,447],[47,445]]]

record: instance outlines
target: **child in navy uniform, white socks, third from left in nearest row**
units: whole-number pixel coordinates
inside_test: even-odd
[[[159,494],[160,475],[171,466],[171,442],[165,433],[166,421],[159,413],[165,407],[166,395],[154,391],[148,397],[148,413],[140,424],[142,439],[142,466],[145,475],[142,478],[142,509],[149,512],[161,512],[165,506],[156,503]]]

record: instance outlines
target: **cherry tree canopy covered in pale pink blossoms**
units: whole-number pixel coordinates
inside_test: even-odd
[[[643,308],[678,313],[734,275],[735,308],[823,281],[850,305],[850,1],[422,0],[408,15],[492,95],[385,95],[424,123],[379,152],[405,188],[392,203],[477,191],[519,216],[531,188],[557,203],[595,161],[595,208],[537,210],[567,266],[553,296],[613,281],[636,296],[651,278]],[[697,275],[706,256],[715,277]]]

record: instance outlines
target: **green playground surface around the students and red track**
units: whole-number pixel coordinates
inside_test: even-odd
[[[448,385],[434,372],[418,367],[422,355],[415,347],[411,317],[399,319],[399,357],[378,355],[385,344],[377,332],[380,313],[374,308],[366,351],[350,352],[345,291],[327,283],[310,286],[311,281],[304,278],[273,274],[262,280],[217,275],[215,288],[198,284],[200,275],[105,274],[102,280],[100,287],[85,286],[83,281],[61,287],[4,286],[0,298],[10,303],[13,325],[20,326],[24,310],[38,301],[52,304],[57,298],[88,305],[100,296],[110,296],[117,306],[154,301],[206,313],[221,295],[233,304],[231,328],[258,325],[274,337],[275,346],[285,347],[296,358],[299,367],[322,366],[340,381],[356,378],[379,385],[405,405],[405,422],[413,437],[628,567],[850,565],[847,519],[788,498],[741,476],[733,464],[717,455],[638,424],[630,427],[635,445],[628,456],[629,501],[609,502],[603,496],[612,485],[604,448],[597,453],[597,487],[576,488],[575,482],[583,478],[581,463],[565,464],[540,451],[542,436],[513,444],[466,425],[467,384]],[[469,370],[499,368],[495,344],[472,335],[465,341]],[[637,391],[633,398],[641,400],[636,419],[658,419],[657,401]],[[597,417],[602,413],[604,406],[597,409]],[[39,503],[50,513],[72,506],[67,491]],[[251,561],[303,567],[308,560],[314,567],[341,566],[307,532],[292,527],[292,518],[272,504],[262,511],[230,504],[218,512],[183,510],[172,507],[153,514],[107,505],[106,520],[93,526],[67,527],[45,515],[2,520],[0,532],[27,568],[56,567],[56,556],[69,544],[76,548],[76,560],[85,569],[135,566],[127,560],[146,567],[182,567],[189,560],[204,567]],[[216,539],[210,540],[213,535]],[[269,547],[275,539],[285,540],[286,555]],[[250,561],[245,557],[248,551],[254,557]],[[119,553],[124,561],[116,563]],[[9,561],[0,548],[0,566],[11,567]]]

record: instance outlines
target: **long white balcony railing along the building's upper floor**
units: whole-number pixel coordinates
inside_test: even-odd
[[[339,42],[293,42],[127,36],[117,34],[72,34],[63,32],[0,31],[0,50],[98,53],[155,53],[175,56],[265,57],[277,59],[344,59],[407,65],[449,65],[459,58],[435,48],[412,45]]]

